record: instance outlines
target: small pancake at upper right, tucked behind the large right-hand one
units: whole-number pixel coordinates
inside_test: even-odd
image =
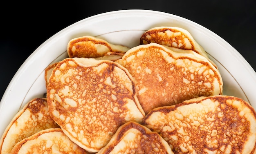
[[[200,46],[191,33],[181,27],[153,27],[144,32],[140,38],[140,44],[149,44],[150,42],[166,45],[168,47],[182,50],[192,50],[206,57],[216,68],[217,65],[209,59],[204,48]]]

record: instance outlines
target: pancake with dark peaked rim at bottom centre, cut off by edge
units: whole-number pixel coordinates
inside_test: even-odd
[[[119,127],[110,142],[97,154],[173,154],[168,143],[156,132],[135,122]]]

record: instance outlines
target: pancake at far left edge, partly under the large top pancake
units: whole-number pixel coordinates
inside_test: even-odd
[[[0,140],[0,153],[9,154],[24,138],[47,128],[59,128],[49,116],[46,98],[29,101],[11,120]]]

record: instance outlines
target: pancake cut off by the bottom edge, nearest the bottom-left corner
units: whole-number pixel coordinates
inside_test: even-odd
[[[11,154],[89,154],[63,133],[60,128],[42,130],[18,142]]]

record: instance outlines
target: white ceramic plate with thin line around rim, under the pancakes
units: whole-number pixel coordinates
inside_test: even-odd
[[[169,13],[149,10],[123,10],[83,19],[59,31],[38,47],[23,63],[0,102],[0,136],[13,116],[46,92],[44,71],[52,62],[67,57],[72,38],[90,35],[112,44],[134,47],[142,33],[152,27],[176,26],[188,30],[216,63],[223,78],[223,94],[236,96],[256,109],[256,73],[248,62],[225,40],[195,22]]]

